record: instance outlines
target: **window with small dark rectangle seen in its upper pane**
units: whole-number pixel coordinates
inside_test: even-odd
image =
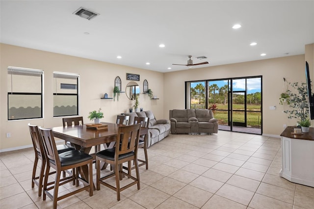
[[[53,72],[53,117],[78,115],[78,74]]]

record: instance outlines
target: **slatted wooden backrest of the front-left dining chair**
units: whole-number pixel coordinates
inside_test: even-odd
[[[43,141],[47,160],[53,162],[56,166],[61,166],[52,130],[39,127],[39,132]]]

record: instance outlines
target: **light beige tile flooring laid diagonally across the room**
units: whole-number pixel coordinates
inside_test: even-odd
[[[143,157],[143,149],[139,149]],[[279,177],[279,138],[219,131],[213,135],[169,135],[148,149],[149,169],[116,200],[101,186],[58,201],[66,209],[313,209],[314,188]],[[0,154],[0,208],[52,208],[31,188],[32,149]],[[106,172],[106,171],[103,171]],[[135,172],[133,171],[132,174]],[[94,181],[96,170],[94,169]],[[122,182],[130,181],[124,178]],[[71,190],[61,186],[59,193]]]

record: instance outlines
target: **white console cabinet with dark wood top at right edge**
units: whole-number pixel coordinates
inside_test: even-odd
[[[282,169],[280,177],[314,187],[314,128],[309,133],[292,134],[287,127],[281,134]]]

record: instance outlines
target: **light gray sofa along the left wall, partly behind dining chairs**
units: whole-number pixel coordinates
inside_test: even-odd
[[[148,140],[147,147],[152,146],[163,138],[170,134],[170,121],[167,119],[157,120],[152,111],[142,111],[142,112],[131,112],[124,113],[124,115],[129,115],[129,125],[134,123],[134,117],[149,117],[149,130],[148,130]]]

